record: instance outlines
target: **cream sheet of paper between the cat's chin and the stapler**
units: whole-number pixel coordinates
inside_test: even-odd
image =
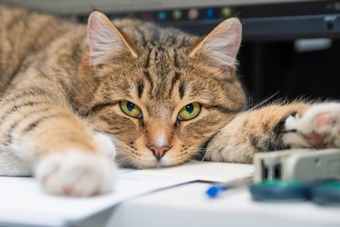
[[[136,174],[224,183],[248,177],[254,171],[253,164],[190,162],[169,168],[140,170]]]

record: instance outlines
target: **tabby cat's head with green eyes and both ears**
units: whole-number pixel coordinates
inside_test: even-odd
[[[197,37],[140,21],[88,22],[77,103],[112,135],[117,161],[137,168],[185,163],[245,107],[236,77],[241,25],[232,18]]]

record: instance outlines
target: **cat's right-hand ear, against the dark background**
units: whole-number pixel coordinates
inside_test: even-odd
[[[230,18],[196,44],[189,57],[204,55],[216,64],[236,67],[239,45],[242,39],[242,25],[237,18]]]

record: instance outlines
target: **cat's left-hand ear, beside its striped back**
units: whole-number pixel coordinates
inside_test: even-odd
[[[90,47],[89,59],[92,66],[109,63],[115,56],[126,51],[133,57],[138,57],[131,44],[112,24],[112,21],[97,11],[89,16],[87,42]]]

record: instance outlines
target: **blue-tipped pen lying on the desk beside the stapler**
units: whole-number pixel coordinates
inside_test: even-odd
[[[237,180],[234,181],[229,181],[227,183],[218,183],[209,186],[209,189],[207,190],[206,194],[210,198],[215,198],[219,195],[220,192],[227,191],[232,188],[238,188],[242,186],[247,186],[250,183],[252,183],[254,176],[248,176],[248,177],[243,177],[243,178],[238,178]]]

